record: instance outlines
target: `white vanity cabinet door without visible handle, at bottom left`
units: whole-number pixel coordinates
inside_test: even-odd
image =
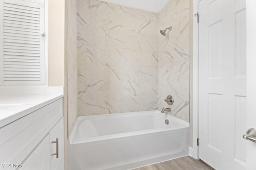
[[[19,170],[50,170],[50,135],[24,160]]]

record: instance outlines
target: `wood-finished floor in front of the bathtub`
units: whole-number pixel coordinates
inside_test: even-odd
[[[202,160],[185,156],[134,170],[214,170],[214,168],[210,167]]]

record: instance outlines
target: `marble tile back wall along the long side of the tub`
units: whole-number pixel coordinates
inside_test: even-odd
[[[78,116],[157,109],[158,15],[77,1]]]

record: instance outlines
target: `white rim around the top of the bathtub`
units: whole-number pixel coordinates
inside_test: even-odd
[[[130,117],[130,116],[139,116],[139,115],[147,115],[147,114],[156,114],[156,115],[160,115],[167,119],[172,119],[173,121],[180,123],[182,126],[176,127],[176,128],[155,128],[155,129],[146,129],[146,130],[141,130],[141,131],[126,132],[126,133],[117,133],[117,134],[111,134],[111,135],[102,135],[102,136],[97,136],[97,137],[88,137],[88,138],[86,138],[87,140],[73,142],[73,139],[75,137],[74,132],[78,131],[78,124],[81,121],[93,120],[93,119],[106,119],[106,118],[110,118],[110,117],[113,117],[113,118],[114,117]],[[91,142],[105,141],[105,140],[110,140],[110,139],[118,139],[118,138],[122,138],[122,137],[146,135],[146,134],[150,134],[150,133],[159,133],[159,132],[172,131],[172,130],[177,130],[177,129],[186,129],[189,127],[190,127],[190,123],[188,123],[182,119],[179,119],[177,117],[174,117],[172,115],[169,115],[167,113],[161,113],[160,111],[136,111],[136,112],[126,112],[126,113],[111,113],[111,114],[102,114],[102,115],[79,116],[76,120],[76,123],[74,125],[74,128],[71,132],[71,135],[70,135],[68,141],[69,141],[69,145],[76,145],[76,144],[81,144],[81,143],[91,143]]]

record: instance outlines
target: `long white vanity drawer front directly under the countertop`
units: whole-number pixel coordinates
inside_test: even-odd
[[[0,163],[20,164],[62,115],[62,99],[59,99],[2,127]]]

